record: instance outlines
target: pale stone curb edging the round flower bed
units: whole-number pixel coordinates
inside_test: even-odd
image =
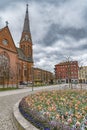
[[[39,130],[21,115],[18,108],[19,102],[20,101],[18,101],[13,107],[13,117],[17,126],[17,130]]]

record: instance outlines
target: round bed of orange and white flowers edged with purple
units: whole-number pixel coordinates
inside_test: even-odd
[[[38,92],[24,97],[19,110],[41,130],[87,130],[87,91]]]

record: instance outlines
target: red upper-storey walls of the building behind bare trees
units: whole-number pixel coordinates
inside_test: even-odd
[[[55,65],[55,76],[56,79],[73,78],[78,79],[78,62],[63,62]]]

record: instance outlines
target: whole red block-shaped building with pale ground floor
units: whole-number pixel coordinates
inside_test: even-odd
[[[55,65],[57,83],[78,82],[78,62],[67,61]]]

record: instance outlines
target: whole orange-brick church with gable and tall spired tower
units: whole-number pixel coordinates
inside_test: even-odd
[[[8,24],[0,29],[0,84],[32,81],[33,49],[28,5],[19,48],[15,46]]]

